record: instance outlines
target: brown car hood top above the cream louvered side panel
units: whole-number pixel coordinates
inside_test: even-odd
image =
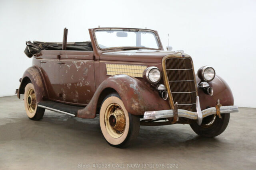
[[[162,63],[162,58],[164,56],[176,53],[178,52],[148,49],[114,51],[102,53],[100,55],[100,60]]]

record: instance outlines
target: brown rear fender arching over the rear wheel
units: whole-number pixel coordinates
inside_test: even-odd
[[[25,86],[31,81],[36,91],[36,104],[38,104],[45,96],[44,84],[42,82],[42,76],[39,72],[39,68],[36,66],[29,67],[23,74],[20,82],[20,87],[17,92],[18,98],[20,94],[24,94]]]

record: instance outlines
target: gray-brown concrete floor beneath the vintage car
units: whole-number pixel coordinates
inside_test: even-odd
[[[101,163],[122,169],[136,163],[139,169],[142,164],[164,169],[156,168],[160,163],[178,164],[179,169],[255,169],[256,109],[239,109],[230,115],[226,131],[215,138],[198,137],[189,125],[141,126],[134,145],[117,149],[104,140],[98,117],[80,119],[46,111],[41,121],[31,121],[23,100],[2,97],[0,169],[81,169],[94,163],[98,169],[104,169]]]

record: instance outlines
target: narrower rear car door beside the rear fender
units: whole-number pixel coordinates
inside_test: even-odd
[[[47,94],[50,100],[60,100],[59,55],[60,51],[42,50],[42,55],[39,58]]]

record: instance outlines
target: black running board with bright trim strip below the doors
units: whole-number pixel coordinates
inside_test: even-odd
[[[56,111],[58,113],[64,113],[64,114],[70,115],[70,116],[76,116],[77,111],[79,109],[84,108],[84,107],[81,107],[81,106],[72,106],[72,105],[61,104],[61,103],[52,102],[52,101],[39,102],[38,107],[48,109],[48,110],[51,110],[51,111]]]

